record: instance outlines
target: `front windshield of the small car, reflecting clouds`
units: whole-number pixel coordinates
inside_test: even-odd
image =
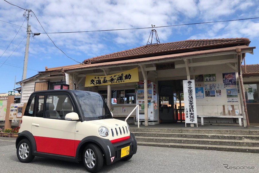
[[[99,93],[88,91],[74,91],[81,104],[85,120],[99,120],[112,118],[111,112]]]

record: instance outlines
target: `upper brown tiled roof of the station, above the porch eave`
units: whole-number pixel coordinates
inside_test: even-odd
[[[197,50],[215,49],[236,45],[249,45],[248,38],[227,38],[227,39],[200,39],[185,40],[170,43],[152,44],[136,47],[107,55],[101,55],[84,60],[84,63],[100,63],[123,59],[135,59],[139,57],[150,57],[165,54],[191,52]]]

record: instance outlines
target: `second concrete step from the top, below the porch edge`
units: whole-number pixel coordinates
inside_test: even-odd
[[[132,131],[131,131],[132,132]],[[223,139],[223,140],[255,140],[258,135],[240,134],[197,134],[197,133],[167,133],[167,132],[132,132],[135,136],[162,137],[162,138],[196,138],[196,139]]]

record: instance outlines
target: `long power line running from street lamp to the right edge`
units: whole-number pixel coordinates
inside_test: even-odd
[[[179,24],[179,25],[168,25],[168,26],[144,27],[144,28],[106,29],[106,30],[74,31],[74,32],[49,32],[49,33],[45,32],[45,33],[37,33],[37,34],[83,33],[83,32],[100,32],[100,31],[121,31],[121,30],[134,30],[134,29],[150,29],[150,28],[162,28],[162,27],[173,27],[173,26],[183,26],[183,25],[197,25],[197,24],[205,24],[205,23],[219,23],[219,22],[240,21],[240,20],[249,20],[249,19],[259,19],[259,17],[246,18],[246,19],[224,20],[224,21],[213,21],[213,22],[188,23],[188,24]]]

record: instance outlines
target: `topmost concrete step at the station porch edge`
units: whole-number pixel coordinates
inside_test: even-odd
[[[259,130],[130,128],[131,132],[259,135]]]

